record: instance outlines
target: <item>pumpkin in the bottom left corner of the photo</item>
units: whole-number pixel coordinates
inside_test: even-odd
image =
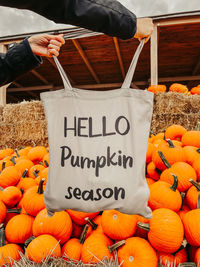
[[[20,260],[20,252],[22,248],[16,244],[6,244],[4,225],[0,225],[0,266],[8,264],[11,266],[14,261]]]

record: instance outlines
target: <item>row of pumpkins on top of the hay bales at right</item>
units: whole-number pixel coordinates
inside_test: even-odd
[[[163,84],[151,85],[147,88],[147,91],[152,92],[154,94],[163,93],[167,91],[167,87],[166,85],[163,85]],[[175,92],[175,93],[182,93],[185,95],[200,95],[200,84],[191,88],[191,90],[189,90],[186,85],[183,85],[181,83],[173,83],[169,87],[168,91]]]

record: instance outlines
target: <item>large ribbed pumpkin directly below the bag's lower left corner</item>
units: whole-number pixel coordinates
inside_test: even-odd
[[[52,217],[47,215],[47,210],[41,210],[33,223],[33,235],[49,234],[54,236],[60,244],[65,243],[72,233],[72,221],[65,211],[55,212]]]

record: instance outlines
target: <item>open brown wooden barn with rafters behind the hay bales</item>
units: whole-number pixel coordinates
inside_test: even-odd
[[[200,83],[200,13],[154,18],[151,42],[143,48],[133,79],[134,88],[145,89],[149,84],[173,82],[189,88]],[[77,28],[78,29],[78,28]],[[67,34],[66,31],[56,31]],[[30,35],[30,34],[27,34]],[[9,43],[19,42],[27,35],[0,38],[0,51]],[[59,60],[72,85],[77,88],[108,90],[120,87],[138,45],[97,35],[66,40]],[[62,88],[62,81],[51,58],[15,82],[0,88],[0,105],[39,99],[39,93]]]

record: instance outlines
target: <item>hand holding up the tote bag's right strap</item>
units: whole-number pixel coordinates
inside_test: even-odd
[[[153,33],[153,27],[153,21],[151,18],[137,19],[137,32],[134,37],[140,41],[145,38],[145,42],[148,42],[151,34]]]

